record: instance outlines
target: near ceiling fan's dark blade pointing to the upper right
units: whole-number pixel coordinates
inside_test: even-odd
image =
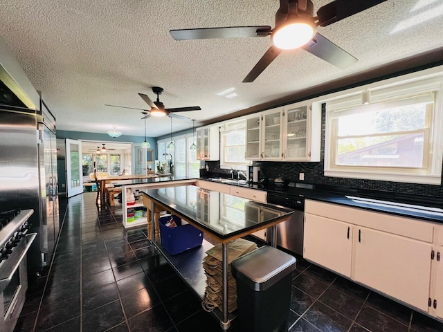
[[[335,0],[318,9],[318,25],[329,26],[386,0]]]

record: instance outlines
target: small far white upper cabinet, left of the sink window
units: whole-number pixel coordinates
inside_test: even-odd
[[[197,159],[220,160],[220,132],[218,126],[197,128]]]

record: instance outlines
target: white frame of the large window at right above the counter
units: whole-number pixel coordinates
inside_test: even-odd
[[[442,138],[443,138],[443,73],[442,68],[394,77],[389,80],[374,82],[366,86],[359,86],[347,91],[333,93],[313,100],[313,107],[322,107],[325,104],[325,159],[324,175],[341,178],[361,178],[377,181],[395,181],[404,183],[424,183],[440,185],[442,183]],[[332,110],[352,109],[363,107],[361,93],[371,91],[371,104],[386,102],[386,100],[406,98],[410,95],[435,91],[433,113],[426,121],[431,122],[427,133],[424,133],[424,165],[426,169],[418,167],[352,167],[335,165],[335,151],[337,138],[334,132]],[[388,134],[388,133],[387,133]],[[426,149],[426,145],[428,148]],[[428,153],[426,153],[428,151]]]

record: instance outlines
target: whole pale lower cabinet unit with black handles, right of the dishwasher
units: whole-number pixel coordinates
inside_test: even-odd
[[[443,256],[443,244],[437,246],[434,228],[426,221],[307,200],[303,256],[442,318],[443,308],[433,308],[434,298],[443,307],[443,264],[437,264],[437,253],[431,258],[433,248]]]

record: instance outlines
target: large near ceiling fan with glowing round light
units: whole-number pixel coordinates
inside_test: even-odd
[[[170,30],[170,34],[176,40],[271,36],[273,45],[246,75],[244,83],[253,82],[282,50],[299,47],[344,69],[358,59],[316,33],[317,27],[329,26],[383,1],[386,0],[335,0],[318,9],[314,17],[311,0],[280,0],[273,29],[270,26],[229,26]]]

